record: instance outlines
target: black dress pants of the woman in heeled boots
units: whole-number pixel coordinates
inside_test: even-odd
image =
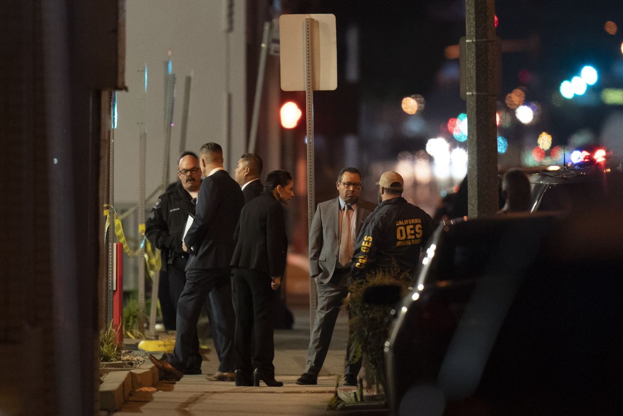
[[[273,304],[275,292],[268,274],[257,270],[232,270],[235,310],[235,367],[250,375],[254,368],[274,377]]]

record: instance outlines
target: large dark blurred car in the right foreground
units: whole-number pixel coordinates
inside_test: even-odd
[[[623,219],[443,223],[386,342],[391,415],[614,415]]]

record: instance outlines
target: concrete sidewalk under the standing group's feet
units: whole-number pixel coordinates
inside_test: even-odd
[[[126,401],[114,415],[325,415],[342,414],[327,409],[335,395],[337,376],[344,374],[346,312],[336,323],[325,365],[318,385],[297,385],[295,380],[305,370],[309,342],[309,311],[305,304],[294,306],[295,324],[292,330],[275,331],[275,378],[283,387],[235,387],[233,382],[212,382],[206,374],[217,370],[214,347],[204,357],[201,375],[186,375],[179,382],[156,382],[152,386],[139,384],[126,395]],[[150,367],[148,363],[144,365]],[[106,379],[105,379],[106,382]],[[340,379],[341,382],[341,379]],[[341,394],[354,387],[340,387]],[[127,393],[127,392],[126,392]],[[378,413],[373,413],[378,414]]]

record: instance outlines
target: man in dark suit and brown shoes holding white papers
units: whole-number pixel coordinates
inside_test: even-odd
[[[214,314],[214,328],[224,342],[219,356],[219,369],[214,377],[234,380],[234,310],[231,297],[229,262],[234,251],[235,227],[244,206],[240,186],[223,168],[222,148],[217,143],[206,143],[199,150],[201,171],[206,177],[201,182],[193,224],[182,243],[188,251],[186,284],[179,297],[177,327],[173,356],[167,360],[151,361],[166,375],[180,379],[189,358],[198,359],[199,339],[197,320],[201,306],[210,297]],[[218,351],[217,351],[218,352]]]

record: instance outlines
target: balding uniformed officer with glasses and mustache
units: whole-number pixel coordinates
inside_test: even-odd
[[[182,234],[189,213],[194,213],[194,198],[201,186],[199,159],[193,154],[179,160],[179,181],[158,197],[145,222],[145,235],[162,256],[162,269],[168,274],[168,287],[174,314],[178,310],[179,295],[186,283],[188,253],[182,249]],[[174,315],[175,316],[175,315]],[[173,329],[175,317],[173,317]]]

